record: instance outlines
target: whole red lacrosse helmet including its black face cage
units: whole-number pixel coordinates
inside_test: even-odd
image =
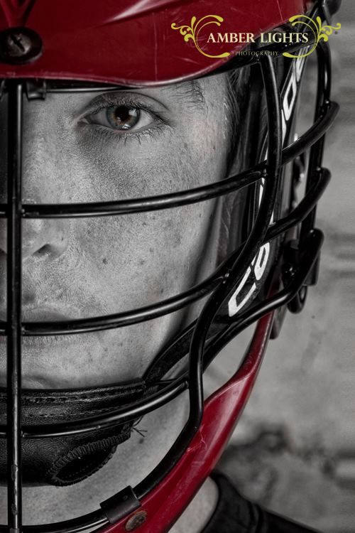
[[[268,339],[278,335],[285,309],[299,312],[307,286],[317,281],[322,232],[315,229],[315,210],[329,181],[329,171],[322,168],[324,134],[338,109],[330,99],[329,49],[320,33],[323,23],[331,33],[330,16],[337,3],[264,0],[259,4],[249,0],[126,0],[98,7],[89,0],[1,1],[0,79],[9,116],[9,190],[7,203],[0,205],[0,216],[7,220],[8,242],[7,319],[0,323],[0,334],[7,338],[8,385],[0,391],[0,446],[4,451],[0,473],[3,477],[8,473],[8,527],[13,531],[21,529],[22,483],[68,485],[87,477],[129,438],[137,419],[188,389],[187,424],[141,483],[121,490],[89,515],[31,526],[31,531],[43,533],[93,527],[107,533],[137,528],[168,531],[226,446]],[[305,133],[295,137],[297,96],[311,55],[317,55],[315,119]],[[101,203],[33,204],[22,198],[23,98],[31,101],[45,99],[50,92],[161,86],[241,68],[250,69],[246,87],[249,124],[244,139],[244,163],[249,164],[237,175],[190,190]],[[305,193],[297,201],[304,173]],[[228,254],[204,281],[126,312],[71,321],[22,321],[23,219],[116,217],[190,205],[240,190],[244,208],[239,235],[229,242]],[[207,296],[200,316],[168,340],[142,379],[64,392],[21,388],[24,336],[124,328]],[[241,365],[204,402],[204,370],[252,323],[257,323],[255,333]],[[184,367],[167,379],[187,354],[188,370]],[[83,399],[89,402],[89,414],[82,407]]]

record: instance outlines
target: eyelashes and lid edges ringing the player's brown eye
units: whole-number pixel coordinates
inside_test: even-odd
[[[110,129],[107,126],[102,126],[101,124],[94,124],[92,122],[84,122],[85,119],[88,120],[87,117],[91,115],[98,114],[103,109],[107,109],[111,106],[127,106],[127,107],[135,107],[136,109],[139,109],[140,111],[144,111],[151,115],[155,123],[151,124],[151,126],[146,126],[145,129],[141,129],[138,131],[124,131],[124,130],[114,130]],[[168,119],[163,119],[163,117],[158,114],[151,106],[147,104],[143,104],[142,102],[138,102],[138,100],[133,98],[127,98],[127,97],[121,97],[121,98],[112,98],[111,95],[105,95],[104,102],[102,104],[97,104],[92,109],[90,109],[87,114],[82,117],[80,120],[81,124],[85,126],[91,126],[91,132],[94,129],[97,134],[99,134],[101,139],[109,139],[114,141],[124,141],[124,144],[129,139],[136,139],[138,140],[139,144],[141,144],[143,139],[149,138],[155,140],[158,134],[165,131],[166,127],[170,127],[171,123],[168,121]]]

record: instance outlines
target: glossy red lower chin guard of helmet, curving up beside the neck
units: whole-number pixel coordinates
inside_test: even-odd
[[[249,398],[271,333],[273,316],[258,322],[243,364],[229,382],[205,402],[200,430],[185,455],[170,474],[141,502],[141,507],[102,533],[124,533],[125,524],[137,512],[146,512],[146,522],[135,529],[164,533],[182,514],[204,480],[212,472]]]

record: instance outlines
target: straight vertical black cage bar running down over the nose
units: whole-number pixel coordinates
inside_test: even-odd
[[[7,490],[10,533],[21,532],[21,123],[22,84],[9,82],[7,218]]]

